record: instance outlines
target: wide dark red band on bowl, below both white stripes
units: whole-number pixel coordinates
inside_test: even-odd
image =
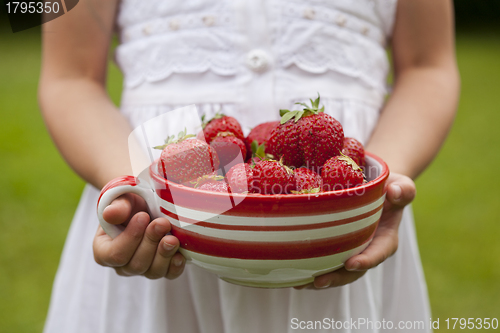
[[[172,225],[181,247],[204,255],[252,259],[286,260],[323,257],[356,248],[373,237],[378,221],[358,231],[336,237],[292,242],[246,242],[208,237]],[[307,234],[304,234],[304,238]]]

